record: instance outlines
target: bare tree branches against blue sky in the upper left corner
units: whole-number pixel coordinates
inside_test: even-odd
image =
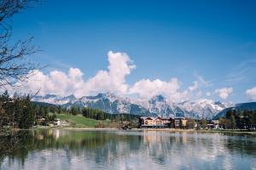
[[[14,42],[11,19],[25,8],[31,8],[36,0],[0,0],[0,87],[14,86],[17,81],[26,81],[38,68],[28,59],[38,51],[31,45],[32,37]]]

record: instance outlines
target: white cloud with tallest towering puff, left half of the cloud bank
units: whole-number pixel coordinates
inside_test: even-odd
[[[68,73],[50,71],[49,74],[44,74],[42,71],[35,71],[35,76],[27,82],[18,84],[26,87],[25,90],[22,89],[26,93],[35,93],[40,89],[39,94],[74,94],[77,97],[100,92],[126,94],[128,85],[125,83],[125,77],[131,74],[136,65],[131,65],[132,61],[127,54],[112,51],[108,52],[108,62],[108,71],[98,71],[95,77],[89,78],[86,82],[82,71],[70,68]]]

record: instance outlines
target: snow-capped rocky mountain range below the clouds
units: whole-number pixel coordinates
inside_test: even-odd
[[[75,98],[73,95],[67,97],[47,94],[45,96],[36,96],[33,101],[44,102],[63,107],[79,105],[83,107],[92,107],[101,109],[108,113],[130,113],[142,116],[186,116],[200,119],[205,117],[211,119],[218,112],[232,106],[230,103],[215,102],[211,99],[197,99],[194,101],[185,101],[183,103],[172,103],[164,96],[157,95],[152,99],[130,99],[116,94],[97,94],[96,96],[84,96]]]

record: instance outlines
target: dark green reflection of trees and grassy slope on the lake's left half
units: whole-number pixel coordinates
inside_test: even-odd
[[[22,134],[20,134],[22,133]],[[57,135],[56,135],[57,134]],[[106,133],[101,131],[68,131],[68,130],[37,130],[37,131],[20,131],[15,134],[19,140],[13,145],[13,150],[5,150],[1,154],[1,160],[8,156],[9,160],[18,159],[24,162],[29,151],[32,150],[66,150],[67,156],[73,154],[81,156],[84,151],[91,152],[95,156],[95,161],[109,161],[116,159],[119,153],[127,154],[127,150],[139,150],[140,136],[117,135],[115,133]],[[9,138],[1,139],[2,151],[4,144],[9,144]],[[125,150],[120,148],[125,146]],[[111,150],[111,152],[109,152]]]

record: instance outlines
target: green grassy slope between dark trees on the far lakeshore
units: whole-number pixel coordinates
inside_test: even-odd
[[[61,120],[66,120],[70,123],[71,127],[96,127],[97,123],[104,121],[97,121],[95,119],[89,119],[84,116],[78,115],[66,115],[66,114],[56,114],[57,118]]]

